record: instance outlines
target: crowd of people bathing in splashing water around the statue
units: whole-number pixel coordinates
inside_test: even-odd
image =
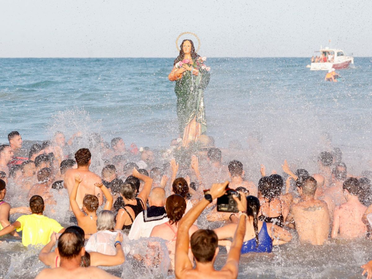
[[[176,278],[236,278],[241,254],[272,253],[294,233],[312,245],[370,237],[372,171],[349,173],[340,148],[318,155],[316,173],[291,169],[284,160],[282,175],[267,173],[262,165],[259,181],[249,181],[243,163],[234,159],[224,165],[227,150],[206,135],[188,149],[182,140],[172,140],[166,156],[135,144],[127,148],[119,137],[108,143],[99,134],[87,135],[87,148],[77,148],[82,136],[66,141],[55,132],[52,140],[26,150],[13,131],[9,144],[0,145],[0,236],[10,234],[24,246],[41,248],[39,259],[49,268],[37,278],[115,278],[97,266],[123,264],[130,250],[125,239],[150,238],[151,254],[162,238],[169,251],[168,272]],[[103,167],[94,173],[97,162]],[[29,206],[12,207],[9,187],[26,193]],[[240,193],[240,199],[233,196],[237,213],[216,209],[216,199],[227,188]],[[44,215],[58,203],[52,190],[68,193],[69,226]],[[198,223],[206,208],[206,219],[222,226],[208,230]],[[13,214],[21,215],[10,222]],[[215,270],[221,246],[228,254]],[[156,254],[134,258],[148,266],[164,261]],[[372,261],[362,267],[371,278]]]

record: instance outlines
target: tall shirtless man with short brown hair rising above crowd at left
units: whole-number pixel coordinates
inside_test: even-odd
[[[103,203],[102,191],[99,187],[94,186],[96,183],[102,183],[100,177],[89,171],[92,154],[89,149],[80,148],[75,153],[75,160],[77,163],[77,169],[69,169],[65,173],[64,185],[67,188],[68,195],[71,195],[72,188],[75,184],[75,174],[80,173],[83,182],[80,183],[77,190],[76,202],[79,208],[83,207],[83,198],[86,194],[95,195],[98,198],[99,205]],[[71,210],[71,206],[70,206]]]

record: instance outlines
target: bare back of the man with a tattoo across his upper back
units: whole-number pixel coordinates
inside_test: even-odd
[[[322,245],[328,239],[330,216],[327,203],[312,199],[292,208],[292,217],[301,242]]]

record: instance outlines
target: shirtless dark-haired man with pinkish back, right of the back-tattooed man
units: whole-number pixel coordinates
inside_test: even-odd
[[[334,210],[331,237],[352,239],[365,236],[367,227],[362,222],[362,217],[367,207],[358,199],[359,181],[356,178],[347,179],[343,183],[343,192],[347,202]]]

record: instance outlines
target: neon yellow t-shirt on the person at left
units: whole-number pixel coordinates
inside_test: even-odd
[[[21,227],[17,228],[17,231],[22,231],[22,244],[24,246],[30,244],[46,245],[54,231],[59,232],[63,229],[60,223],[44,215],[22,215],[17,221],[21,223]]]

